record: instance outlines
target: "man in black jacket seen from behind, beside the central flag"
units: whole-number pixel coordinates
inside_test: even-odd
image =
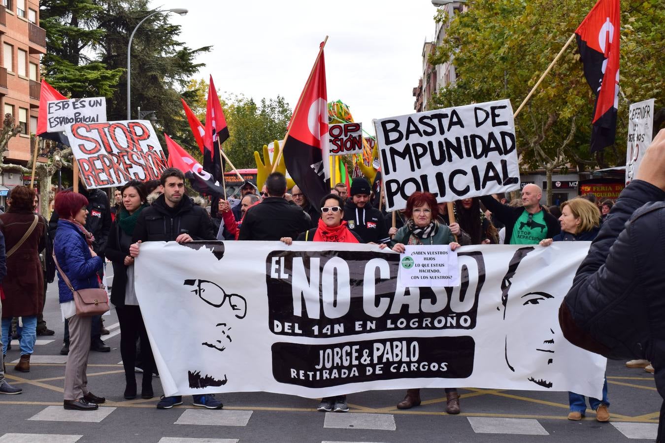
[[[276,240],[282,237],[297,238],[311,228],[311,218],[297,205],[289,205],[284,199],[287,179],[282,173],[273,172],[265,181],[268,197],[245,212],[240,225],[238,240]]]

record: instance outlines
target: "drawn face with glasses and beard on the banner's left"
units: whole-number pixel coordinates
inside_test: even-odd
[[[201,322],[196,327],[196,336],[204,337],[201,343],[192,343],[205,348],[205,352],[220,353],[231,346],[233,338],[231,330],[233,329],[233,319],[243,319],[247,315],[247,301],[238,294],[227,294],[221,286],[210,282],[209,280],[188,279],[184,282],[185,286],[192,286],[192,294],[198,296],[198,302],[204,302],[213,308],[219,308],[219,314],[215,313],[213,323]],[[214,355],[212,358],[216,358]],[[188,371],[190,387],[205,388],[209,386],[221,386],[227,382],[226,375],[223,380],[220,375],[207,374],[201,376],[201,371]]]

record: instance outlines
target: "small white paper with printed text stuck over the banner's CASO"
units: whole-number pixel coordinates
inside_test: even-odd
[[[405,245],[400,281],[405,287],[460,286],[457,252],[448,245]]]

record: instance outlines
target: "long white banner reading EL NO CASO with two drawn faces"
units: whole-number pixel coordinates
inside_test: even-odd
[[[600,398],[606,360],[571,345],[558,319],[588,249],[466,246],[460,286],[402,288],[400,255],[376,245],[144,242],[135,288],[166,395],[473,386]]]

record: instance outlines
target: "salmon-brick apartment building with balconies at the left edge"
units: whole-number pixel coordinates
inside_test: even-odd
[[[46,31],[39,27],[39,0],[0,0],[0,109],[14,116],[21,133],[9,141],[5,163],[25,165],[30,134],[37,130],[39,62],[46,53]],[[0,203],[9,189],[23,184],[23,175],[5,171],[0,177]]]

